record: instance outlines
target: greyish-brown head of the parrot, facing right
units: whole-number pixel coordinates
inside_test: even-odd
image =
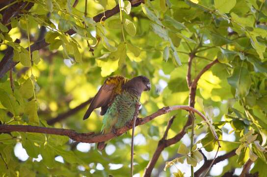
[[[151,84],[150,81],[147,77],[145,76],[137,76],[134,77],[133,79],[129,80],[125,85],[124,88],[128,89],[134,89],[137,91],[139,95],[143,91],[149,91],[151,89]]]

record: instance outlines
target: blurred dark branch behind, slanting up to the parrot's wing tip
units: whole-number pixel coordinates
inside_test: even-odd
[[[87,101],[81,103],[77,107],[75,107],[73,109],[70,109],[69,111],[67,111],[65,113],[59,114],[56,118],[52,118],[52,119],[48,120],[47,124],[53,125],[55,122],[61,121],[61,120],[65,119],[65,118],[68,118],[68,117],[74,115],[75,113],[80,111],[82,108],[87,106],[89,103],[91,103],[91,101],[92,101],[92,98],[88,99]]]

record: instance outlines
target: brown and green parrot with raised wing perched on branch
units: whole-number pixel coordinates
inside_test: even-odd
[[[89,118],[94,109],[101,107],[100,115],[104,115],[101,132],[114,132],[133,119],[135,105],[139,103],[141,93],[150,89],[149,79],[145,76],[137,76],[130,80],[123,76],[109,77],[93,98],[83,119]],[[105,142],[97,145],[99,150],[105,147]]]

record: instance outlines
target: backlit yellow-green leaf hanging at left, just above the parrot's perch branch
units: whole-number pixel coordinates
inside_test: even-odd
[[[29,122],[39,124],[39,117],[37,111],[38,111],[38,104],[34,99],[32,99],[27,103],[25,107],[25,113],[28,115]]]

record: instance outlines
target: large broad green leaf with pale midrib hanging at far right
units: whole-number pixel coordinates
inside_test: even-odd
[[[245,67],[236,67],[231,77],[228,79],[228,83],[236,88],[236,98],[241,99],[245,97],[251,86],[251,78],[248,70]]]

